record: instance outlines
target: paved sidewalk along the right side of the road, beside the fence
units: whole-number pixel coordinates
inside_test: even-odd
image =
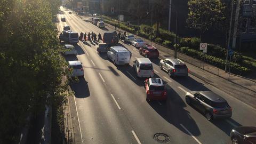
[[[114,26],[108,25],[111,30],[115,30]],[[118,29],[124,33],[124,30]],[[143,39],[147,44],[154,45],[159,50],[159,57],[162,59],[173,57],[174,51],[163,45],[150,42],[149,39],[134,35],[137,38]],[[247,105],[256,108],[256,79],[249,79],[242,76],[225,73],[224,70],[204,63],[201,60],[189,57],[180,52],[177,57],[185,61],[190,69],[191,75],[203,80],[204,82],[216,87],[217,89],[231,95],[232,97],[246,103]]]

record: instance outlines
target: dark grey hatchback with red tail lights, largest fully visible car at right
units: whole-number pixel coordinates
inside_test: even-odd
[[[186,93],[188,105],[194,106],[211,121],[216,118],[230,118],[232,108],[220,95],[212,91],[190,91]]]

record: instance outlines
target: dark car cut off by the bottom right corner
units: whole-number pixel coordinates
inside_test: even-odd
[[[230,132],[231,142],[233,144],[254,144],[256,143],[256,127],[239,126]]]

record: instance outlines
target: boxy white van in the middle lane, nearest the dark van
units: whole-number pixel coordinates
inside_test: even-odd
[[[110,47],[107,57],[114,62],[115,65],[125,65],[130,63],[130,52],[122,46]]]

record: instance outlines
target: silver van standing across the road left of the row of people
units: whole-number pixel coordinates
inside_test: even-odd
[[[79,42],[78,33],[72,30],[64,30],[59,36],[60,42],[63,41],[69,44],[77,44]]]

